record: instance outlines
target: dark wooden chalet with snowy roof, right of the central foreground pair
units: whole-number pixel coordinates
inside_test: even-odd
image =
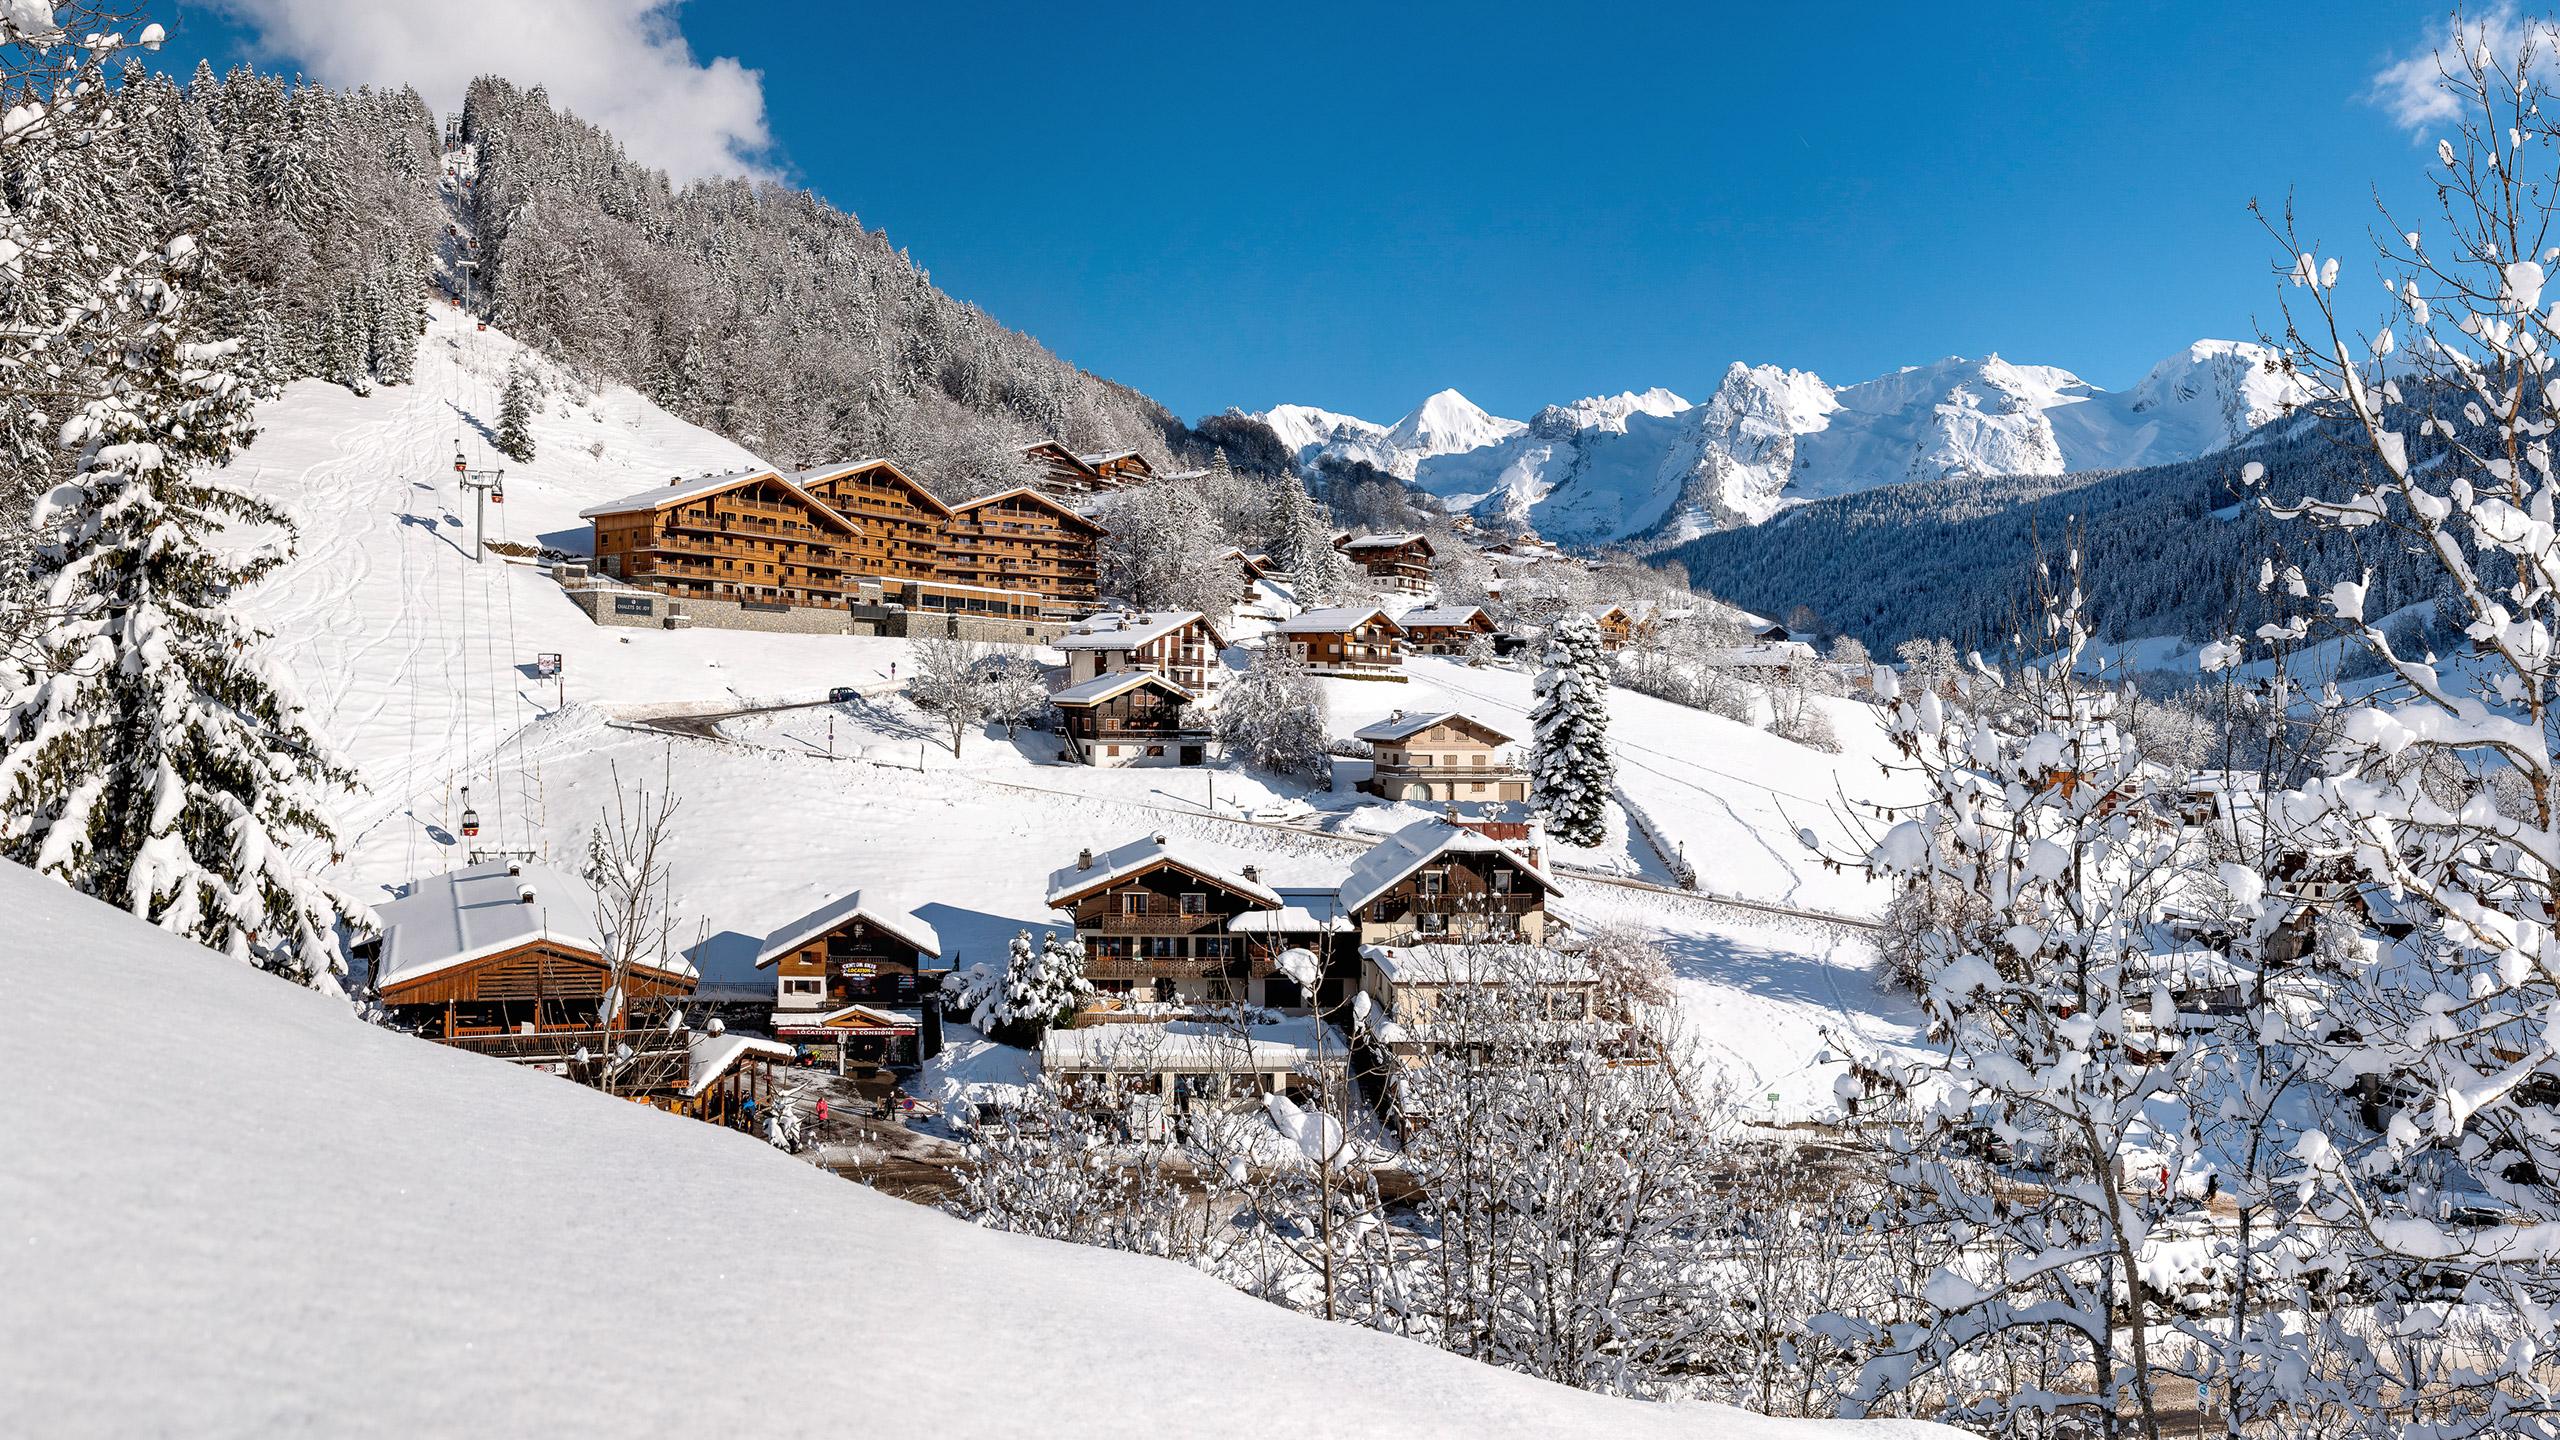
[[[1539,945],[1554,892],[1536,846],[1418,820],[1359,856],[1341,879],[1341,912],[1362,945]]]

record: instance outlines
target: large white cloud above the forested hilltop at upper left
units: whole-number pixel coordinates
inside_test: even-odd
[[[771,174],[765,82],[730,56],[701,61],[676,28],[676,0],[220,0],[276,59],[328,85],[415,85],[458,110],[481,74],[550,92],[550,102],[622,138],[678,182]]]

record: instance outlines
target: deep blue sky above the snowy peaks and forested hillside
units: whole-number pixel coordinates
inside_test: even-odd
[[[374,0],[435,33],[497,3]],[[1999,351],[2132,384],[2273,313],[2250,197],[2291,190],[2332,246],[2373,184],[2422,197],[2424,146],[2371,87],[2442,23],[2412,3],[694,3],[671,10],[689,49],[584,46],[602,74],[579,102],[556,36],[430,56],[340,33],[369,23],[346,10],[366,5],[182,5],[169,61],[417,67],[440,105],[440,74],[558,64],[581,113],[676,131],[655,146],[771,138],[755,164],[1183,415],[1375,420],[1439,387],[1505,415],[1646,384],[1702,400],[1736,359],[1846,384]],[[735,56],[760,115],[737,118],[755,77],[730,74],[689,131],[625,41],[676,49],[678,79]]]

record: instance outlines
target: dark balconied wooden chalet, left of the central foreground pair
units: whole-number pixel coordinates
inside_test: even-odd
[[[1252,922],[1283,907],[1254,866],[1229,866],[1165,835],[1083,851],[1050,874],[1050,910],[1073,915],[1085,976],[1129,999],[1303,1004],[1298,984],[1277,971],[1290,938]]]

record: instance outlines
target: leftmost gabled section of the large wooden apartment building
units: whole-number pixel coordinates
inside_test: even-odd
[[[579,510],[596,569],[668,594],[842,605],[860,528],[771,469],[678,479]]]

